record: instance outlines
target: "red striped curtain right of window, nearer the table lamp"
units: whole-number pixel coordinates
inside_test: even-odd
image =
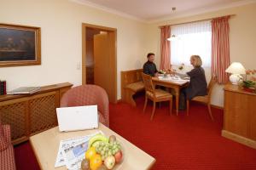
[[[217,76],[220,84],[228,82],[225,70],[230,65],[230,16],[212,20],[212,75]]]

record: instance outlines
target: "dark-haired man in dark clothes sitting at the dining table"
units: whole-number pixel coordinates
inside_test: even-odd
[[[148,53],[148,61],[143,65],[143,73],[150,75],[151,77],[157,77],[158,71],[154,64],[154,53]]]

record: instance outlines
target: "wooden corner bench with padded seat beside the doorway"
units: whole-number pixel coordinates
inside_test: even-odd
[[[133,95],[144,90],[144,83],[141,76],[143,69],[121,71],[121,95],[122,101],[136,106]]]

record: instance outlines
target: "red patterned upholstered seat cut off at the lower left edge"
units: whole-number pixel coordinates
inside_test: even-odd
[[[11,143],[9,125],[2,125],[0,119],[0,170],[15,170],[15,151]]]

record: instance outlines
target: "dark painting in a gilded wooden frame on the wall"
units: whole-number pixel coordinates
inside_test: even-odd
[[[41,30],[0,23],[0,67],[41,65]]]

